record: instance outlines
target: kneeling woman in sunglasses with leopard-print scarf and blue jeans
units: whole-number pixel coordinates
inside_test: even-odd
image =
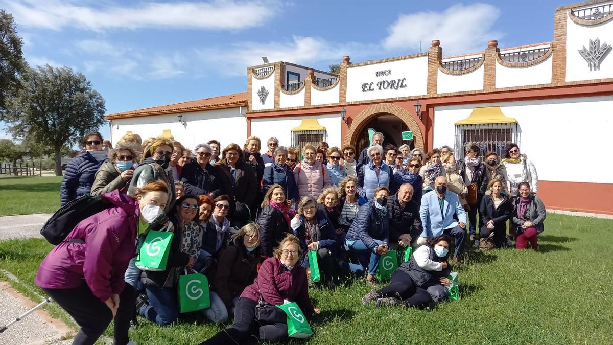
[[[136,312],[145,319],[161,326],[175,322],[179,317],[177,280],[180,271],[192,268],[198,259],[201,246],[199,199],[185,195],[177,200],[170,215],[174,227],[168,261],[164,271],[143,271],[141,282],[145,295],[136,299]]]

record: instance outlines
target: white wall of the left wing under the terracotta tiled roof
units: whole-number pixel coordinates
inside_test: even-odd
[[[245,107],[242,107],[245,112]],[[126,132],[132,131],[146,139],[170,130],[172,136],[185,147],[194,149],[197,144],[216,139],[222,145],[236,142],[243,145],[247,138],[247,120],[239,108],[218,109],[183,113],[186,126],[178,122],[177,114],[120,118],[112,122],[113,144]],[[119,125],[119,128],[117,126]]]

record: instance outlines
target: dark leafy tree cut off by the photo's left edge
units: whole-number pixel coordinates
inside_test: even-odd
[[[0,109],[19,87],[19,76],[28,66],[23,61],[22,45],[13,16],[0,10]]]

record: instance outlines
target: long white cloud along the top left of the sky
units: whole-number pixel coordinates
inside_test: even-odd
[[[208,2],[139,2],[133,6],[103,5],[77,0],[1,0],[23,26],[60,30],[174,28],[235,30],[267,23],[280,4],[271,0]],[[130,2],[126,2],[130,3]],[[87,6],[91,4],[92,6]]]

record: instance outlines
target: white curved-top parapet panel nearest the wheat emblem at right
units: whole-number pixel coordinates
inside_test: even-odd
[[[496,62],[496,87],[518,87],[551,83],[554,55],[547,60],[528,67],[505,67]]]

